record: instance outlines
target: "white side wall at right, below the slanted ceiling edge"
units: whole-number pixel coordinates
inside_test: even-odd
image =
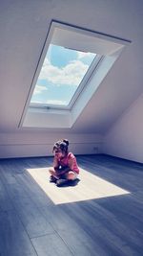
[[[143,94],[106,133],[103,152],[143,163]]]

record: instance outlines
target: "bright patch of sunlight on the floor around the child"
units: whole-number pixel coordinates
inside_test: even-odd
[[[27,171],[54,204],[130,194],[129,191],[81,168],[80,181],[75,186],[67,187],[56,187],[54,183],[50,183],[48,168],[34,168]]]

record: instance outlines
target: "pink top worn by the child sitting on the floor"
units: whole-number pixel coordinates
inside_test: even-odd
[[[73,168],[72,171],[74,171],[75,173],[79,174],[79,168],[76,162],[76,157],[73,155],[72,152],[68,152],[68,154],[62,158],[62,159],[58,159],[58,164],[61,166],[69,166],[69,161],[72,160],[73,163]]]

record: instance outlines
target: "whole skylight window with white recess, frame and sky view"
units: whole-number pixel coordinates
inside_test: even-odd
[[[72,128],[129,42],[52,21],[19,126]]]

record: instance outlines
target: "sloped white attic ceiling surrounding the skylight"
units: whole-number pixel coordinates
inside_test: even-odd
[[[22,129],[18,126],[52,19],[132,41],[71,129],[102,133],[110,128],[143,92],[142,14],[141,0],[1,1],[0,132]]]

